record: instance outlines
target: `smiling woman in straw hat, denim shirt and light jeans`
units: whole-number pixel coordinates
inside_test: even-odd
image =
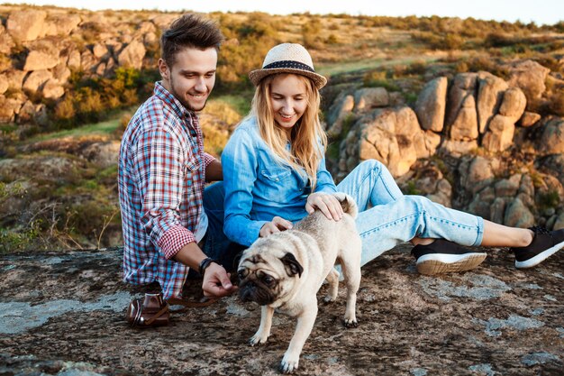
[[[335,186],[325,168],[327,138],[319,121],[319,89],[326,79],[315,73],[307,50],[279,44],[249,77],[257,87],[251,113],[222,155],[223,230],[233,242],[249,246],[290,229],[315,208],[339,220],[342,209],[331,194],[341,191],[359,206],[363,265],[407,241],[416,244],[417,270],[431,275],[468,271],[486,258],[458,244],[513,247],[517,268],[530,268],[564,246],[564,230],[497,225],[425,197],[404,196],[377,160],[360,163]]]

